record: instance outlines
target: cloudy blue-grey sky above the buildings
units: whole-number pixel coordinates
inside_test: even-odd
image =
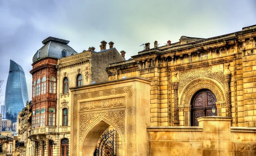
[[[32,98],[32,57],[47,37],[69,40],[77,52],[102,40],[129,59],[142,43],[209,38],[256,24],[255,0],[0,0],[0,105],[10,60],[23,68]],[[161,46],[161,45],[160,45]],[[108,48],[108,46],[107,46]],[[1,96],[2,95],[2,96]]]

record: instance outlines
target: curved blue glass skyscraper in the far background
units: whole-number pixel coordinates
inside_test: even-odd
[[[6,119],[15,122],[18,113],[22,111],[27,101],[29,101],[29,96],[24,71],[19,64],[10,60],[5,93]]]

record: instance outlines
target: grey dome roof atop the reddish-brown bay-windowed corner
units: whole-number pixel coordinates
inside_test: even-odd
[[[48,37],[47,39],[42,41],[44,46],[42,46],[42,48],[40,48],[33,56],[33,63],[45,57],[61,58],[62,50],[67,51],[66,56],[70,56],[71,54],[77,54],[77,52],[73,48],[67,45],[69,42],[70,41],[58,39],[55,37]]]

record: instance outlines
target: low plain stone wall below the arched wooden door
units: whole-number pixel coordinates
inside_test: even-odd
[[[199,127],[148,128],[151,156],[255,156],[256,128],[230,127],[229,117],[201,117]]]

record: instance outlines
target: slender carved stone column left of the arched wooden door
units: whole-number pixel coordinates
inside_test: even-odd
[[[173,86],[173,94],[174,94],[174,125],[179,125],[178,120],[178,86],[179,86],[179,79],[177,78],[177,72],[174,72],[174,78],[172,79],[172,86]]]

